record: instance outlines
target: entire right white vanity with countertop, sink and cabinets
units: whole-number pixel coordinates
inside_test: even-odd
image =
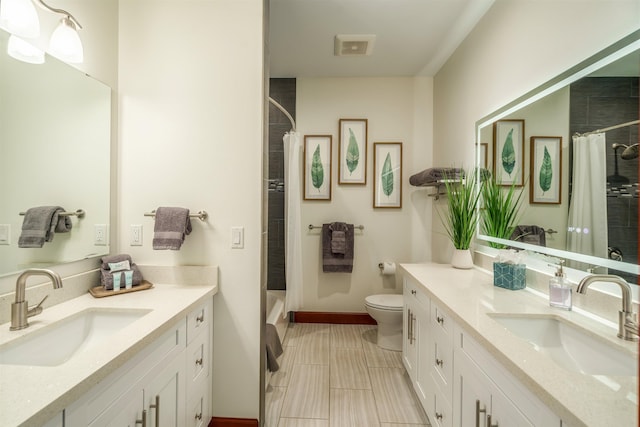
[[[401,273],[403,363],[434,427],[637,425],[637,343],[611,325],[479,268]]]

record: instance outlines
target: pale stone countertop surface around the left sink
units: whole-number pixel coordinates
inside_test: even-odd
[[[87,348],[59,366],[0,363],[0,425],[46,423],[218,291],[217,269],[216,279],[205,282],[206,285],[172,284],[184,282],[171,282],[174,277],[162,272],[155,274],[157,277],[153,271],[149,273],[154,283],[152,289],[104,298],[86,293],[46,308],[42,314],[31,317],[30,326],[24,330],[10,331],[9,323],[0,325],[3,345],[87,309],[150,310],[104,343]],[[163,277],[168,281],[164,282]]]

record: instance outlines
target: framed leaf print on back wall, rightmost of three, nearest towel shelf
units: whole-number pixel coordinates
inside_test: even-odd
[[[402,208],[402,143],[373,144],[373,207]]]

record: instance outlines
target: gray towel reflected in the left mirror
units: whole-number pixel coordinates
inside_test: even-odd
[[[28,209],[22,222],[18,247],[41,248],[45,242],[53,240],[54,232],[70,231],[71,219],[60,216],[60,212],[64,212],[60,206],[38,206]]]

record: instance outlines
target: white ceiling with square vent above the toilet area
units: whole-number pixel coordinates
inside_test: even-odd
[[[271,77],[433,76],[494,0],[271,0]],[[374,34],[371,56],[334,56]]]

